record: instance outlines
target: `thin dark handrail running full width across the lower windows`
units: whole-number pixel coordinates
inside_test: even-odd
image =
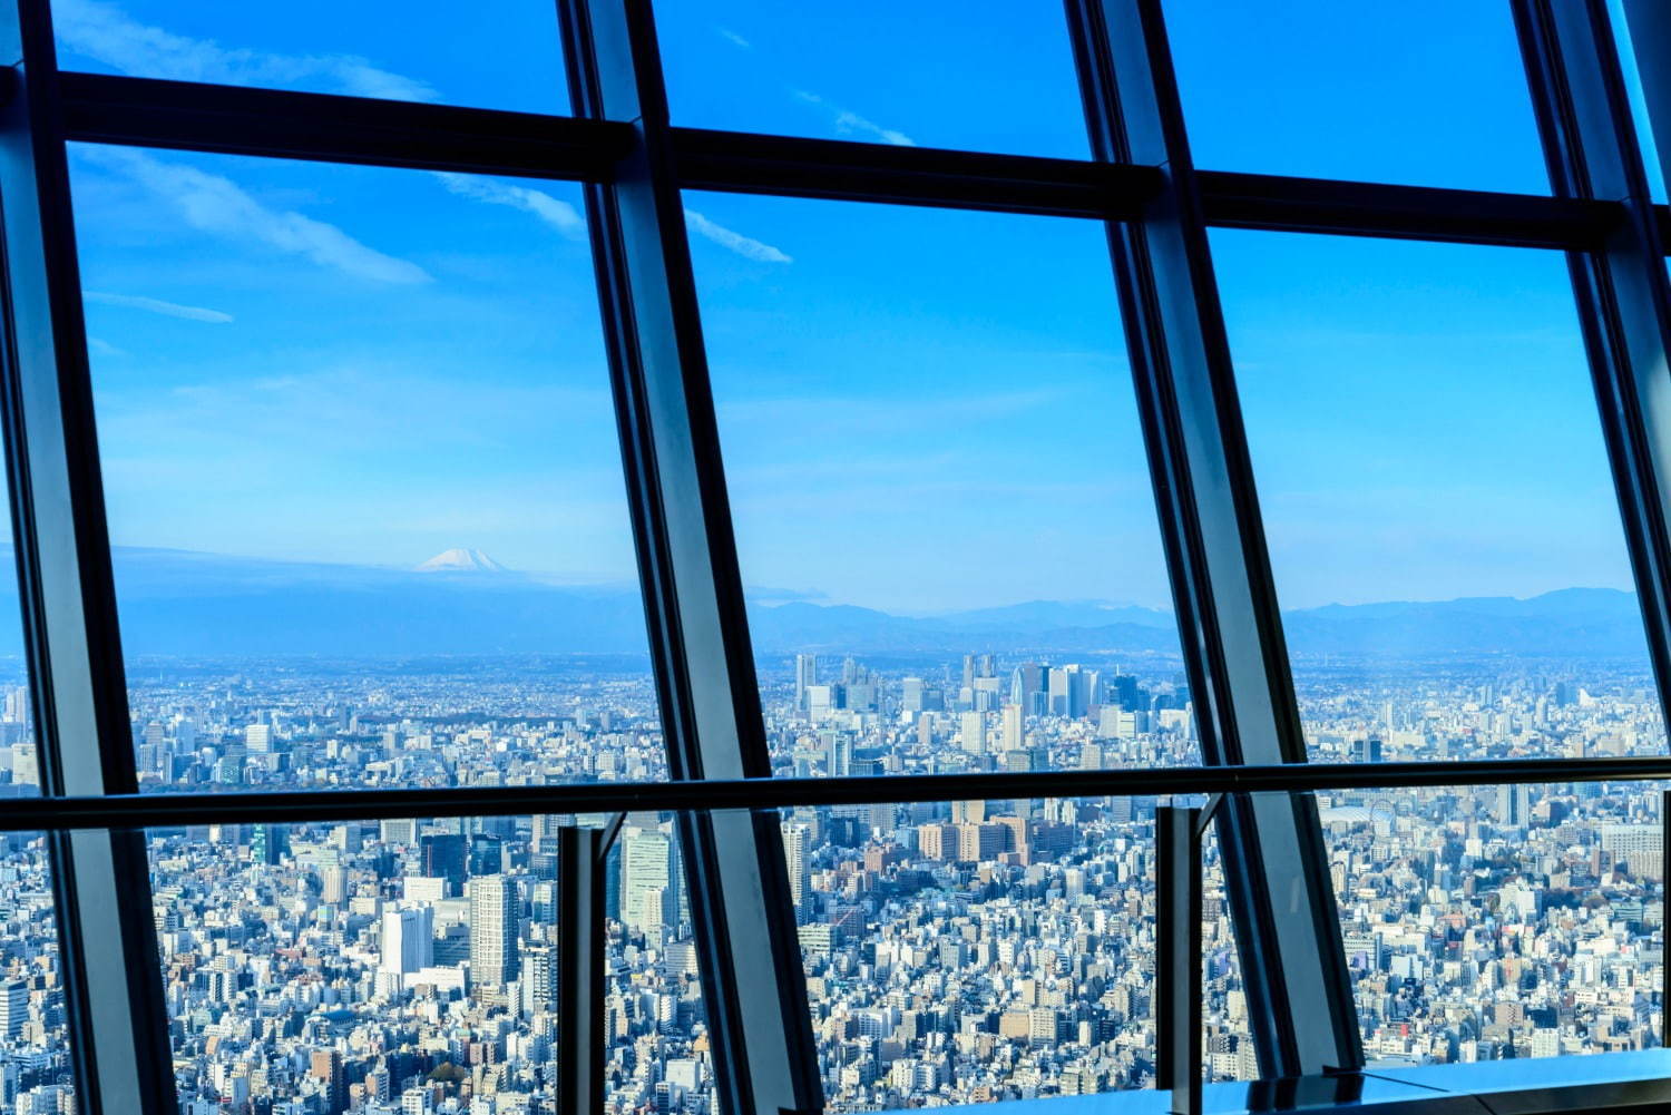
[[[15,797],[0,832],[179,827],[391,817],[505,817],[535,812],[702,812],[926,801],[1165,797],[1181,794],[1472,787],[1532,782],[1671,781],[1671,756],[1623,759],[1464,759],[1447,762],[1288,762],[1270,766],[1028,771],[847,777],[575,782],[556,786],[241,791]]]

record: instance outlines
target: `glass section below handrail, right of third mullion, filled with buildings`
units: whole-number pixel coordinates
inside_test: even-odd
[[[1318,796],[1370,1065],[1663,1045],[1661,791]]]

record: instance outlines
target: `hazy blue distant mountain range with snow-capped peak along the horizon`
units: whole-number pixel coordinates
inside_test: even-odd
[[[637,587],[585,587],[448,550],[416,570],[115,550],[122,639],[139,655],[633,654]],[[936,617],[852,605],[750,603],[757,654],[1176,654],[1170,612],[1034,600]],[[1328,605],[1285,615],[1295,654],[1574,655],[1646,660],[1636,597],[1564,588],[1541,597]],[[0,652],[20,649],[0,597]]]

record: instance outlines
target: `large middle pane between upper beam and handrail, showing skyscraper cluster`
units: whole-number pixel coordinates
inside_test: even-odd
[[[774,769],[1195,762],[1101,226],[687,204]]]

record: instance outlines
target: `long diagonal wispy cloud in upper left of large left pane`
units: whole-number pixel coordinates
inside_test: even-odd
[[[257,241],[282,252],[373,283],[428,283],[429,272],[386,256],[353,236],[291,209],[274,209],[232,179],[197,167],[165,162],[124,147],[87,147],[85,159],[124,174],[170,206],[194,229],[229,239]]]

